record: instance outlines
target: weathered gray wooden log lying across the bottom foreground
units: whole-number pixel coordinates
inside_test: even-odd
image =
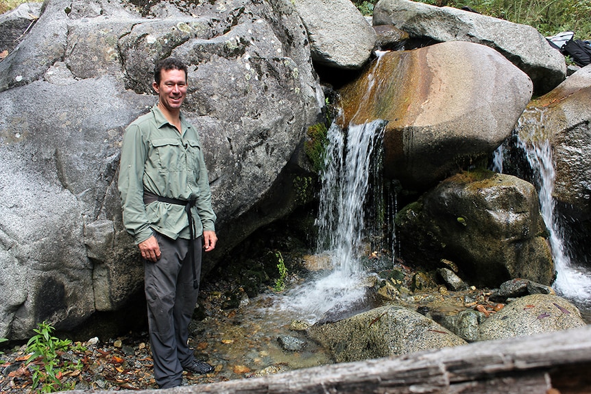
[[[158,394],[589,394],[590,368],[591,325],[586,325],[575,330],[298,369],[262,378],[180,386],[160,390]],[[154,391],[134,391],[150,392]]]

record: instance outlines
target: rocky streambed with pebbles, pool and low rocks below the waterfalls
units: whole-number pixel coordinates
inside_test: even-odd
[[[286,297],[285,292],[278,294],[268,287],[248,297],[238,282],[208,282],[191,323],[191,346],[195,356],[210,362],[215,371],[186,373],[184,384],[245,379],[411,353],[444,343],[461,345],[485,336],[561,330],[584,325],[583,319],[590,322],[588,314],[581,317],[551,288],[527,280],[509,281],[498,289],[459,284],[461,288],[454,290],[458,284],[444,283],[439,275],[442,283],[427,280],[424,289],[411,291],[421,277],[402,264],[373,273],[365,284],[367,302],[359,306],[359,313],[350,308],[341,311],[342,319],[332,315],[315,325],[280,308],[278,300]],[[32,391],[32,366],[25,365],[25,349],[24,344],[13,344],[0,355],[2,393]],[[73,363],[79,367],[68,367]],[[59,354],[58,369],[63,389],[156,388],[147,333],[141,330],[114,338],[88,338],[77,350]]]

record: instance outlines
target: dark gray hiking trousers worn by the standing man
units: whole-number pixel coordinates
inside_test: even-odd
[[[195,356],[189,349],[189,322],[197,304],[188,239],[173,240],[156,233],[158,262],[144,261],[149,339],[154,358],[154,378],[161,389],[179,386],[183,367]],[[195,239],[197,278],[201,273],[202,237]]]

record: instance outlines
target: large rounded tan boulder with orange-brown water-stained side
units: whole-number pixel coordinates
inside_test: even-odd
[[[342,125],[388,121],[385,173],[424,191],[488,158],[511,136],[531,89],[525,73],[484,45],[389,52],[339,90]]]

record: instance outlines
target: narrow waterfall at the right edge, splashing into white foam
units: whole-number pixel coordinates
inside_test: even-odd
[[[555,212],[556,201],[553,198],[555,167],[552,147],[547,138],[542,138],[544,125],[544,110],[527,110],[528,115],[521,119],[530,119],[527,123],[520,119],[518,130],[518,147],[524,150],[527,160],[533,170],[535,183],[538,186],[540,211],[550,233],[549,241],[552,257],[557,271],[554,282],[555,291],[577,304],[586,305],[591,297],[591,276],[582,267],[570,260],[568,249],[564,244],[564,234]],[[519,132],[529,130],[527,138],[520,138]],[[524,141],[527,140],[526,141]],[[501,167],[502,169],[502,167]]]

